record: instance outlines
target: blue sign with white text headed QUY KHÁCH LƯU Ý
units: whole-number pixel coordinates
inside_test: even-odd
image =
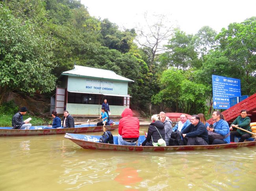
[[[213,108],[228,109],[229,98],[241,96],[240,80],[212,75]]]

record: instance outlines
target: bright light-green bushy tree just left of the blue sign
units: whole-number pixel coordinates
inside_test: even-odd
[[[197,113],[202,110],[207,87],[189,80],[189,73],[174,67],[165,70],[160,78],[161,91],[152,97],[152,102],[169,106],[175,103],[176,112]]]

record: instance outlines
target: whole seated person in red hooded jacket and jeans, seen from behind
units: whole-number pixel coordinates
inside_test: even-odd
[[[132,110],[125,108],[118,127],[119,145],[136,145],[139,138],[139,120],[132,116]]]

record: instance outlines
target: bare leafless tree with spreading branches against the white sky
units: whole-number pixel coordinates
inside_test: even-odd
[[[170,24],[166,15],[153,15],[153,17],[157,18],[155,22],[153,19],[148,19],[147,13],[144,14],[147,26],[138,29],[136,39],[139,45],[150,50],[152,54],[150,65],[153,65],[156,56],[165,50],[163,43],[173,34],[173,24]]]

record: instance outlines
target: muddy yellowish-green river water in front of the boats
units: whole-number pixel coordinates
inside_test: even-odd
[[[250,191],[256,186],[256,147],[93,151],[64,135],[0,137],[0,146],[0,191]]]

